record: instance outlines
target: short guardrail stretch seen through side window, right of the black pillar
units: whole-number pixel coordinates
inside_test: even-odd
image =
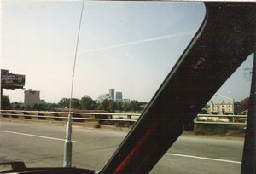
[[[207,121],[198,120],[200,117],[207,118],[232,118],[232,121]],[[242,122],[236,121],[241,119]],[[198,114],[194,119],[195,124],[217,124],[217,125],[247,125],[247,115],[214,115],[214,114]]]

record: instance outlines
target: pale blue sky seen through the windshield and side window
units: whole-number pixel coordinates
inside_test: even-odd
[[[1,67],[26,75],[41,99],[69,97],[82,1],[2,3]],[[85,2],[73,97],[96,99],[109,88],[149,102],[204,19],[202,3]],[[241,100],[250,81],[244,67],[218,93]],[[3,90],[11,102],[24,90]],[[217,97],[215,100],[222,100]]]

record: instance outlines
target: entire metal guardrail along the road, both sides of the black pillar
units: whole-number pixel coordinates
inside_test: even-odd
[[[38,119],[64,119],[67,120],[69,112],[49,112],[49,111],[25,111],[25,110],[0,110],[0,115],[3,117],[23,117],[25,119],[38,118]],[[79,113],[71,112],[74,121],[90,120],[90,121],[127,121],[136,122],[141,116],[139,113]],[[98,117],[98,118],[96,118]],[[107,117],[107,118],[106,118]],[[113,117],[121,117],[113,119]],[[126,117],[127,119],[124,119]],[[207,119],[205,121],[198,118],[232,118],[230,122],[213,121]],[[241,119],[242,122],[237,120]],[[209,121],[211,120],[211,121]],[[194,119],[195,124],[217,124],[217,125],[247,125],[247,115],[215,115],[215,114],[198,114]]]

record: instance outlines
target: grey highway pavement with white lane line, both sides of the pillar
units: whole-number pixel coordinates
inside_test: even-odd
[[[0,161],[26,166],[62,166],[66,127],[0,122]],[[127,131],[73,126],[73,166],[99,171]],[[195,136],[177,139],[150,173],[240,173],[243,138]]]

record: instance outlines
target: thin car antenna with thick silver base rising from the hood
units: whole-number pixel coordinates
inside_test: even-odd
[[[80,36],[80,28],[81,28],[81,23],[82,23],[83,11],[84,11],[84,0],[83,0],[81,14],[80,14],[78,38],[77,38],[77,44],[76,44],[76,49],[75,49],[74,61],[73,61],[73,74],[72,74],[71,92],[70,92],[70,99],[69,99],[69,112],[68,112],[67,129],[66,129],[66,140],[64,142],[63,167],[71,167],[72,166],[72,141],[71,141],[71,133],[72,133],[71,110],[72,110],[72,108],[71,108],[71,106],[72,106],[72,97],[73,97],[73,79],[74,79],[74,73],[75,73],[75,67],[76,67],[76,61],[77,61],[79,36]]]

